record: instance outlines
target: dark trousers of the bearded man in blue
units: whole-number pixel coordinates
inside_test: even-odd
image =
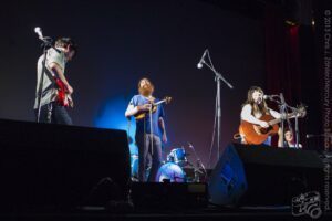
[[[136,145],[138,147],[138,180],[141,182],[156,181],[156,175],[162,165],[162,140],[158,136],[146,134],[136,135]],[[153,150],[151,143],[153,141]],[[151,160],[151,161],[149,161]],[[148,178],[146,180],[146,166],[151,165]]]

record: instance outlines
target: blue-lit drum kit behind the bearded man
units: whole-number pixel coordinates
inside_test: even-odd
[[[196,155],[196,152],[195,152]],[[187,154],[184,147],[174,148],[167,155],[167,160],[160,166],[157,176],[156,182],[199,182],[200,175],[206,175],[205,168],[200,160],[198,159],[198,168],[189,162],[187,159]],[[200,165],[203,167],[200,167]],[[131,168],[132,168],[132,180],[138,181],[138,156],[132,155],[131,157]],[[187,177],[185,168],[194,169],[195,178],[191,179]],[[203,170],[201,170],[203,169]],[[148,172],[148,168],[147,168]]]

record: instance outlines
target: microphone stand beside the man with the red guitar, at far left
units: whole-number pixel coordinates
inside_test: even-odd
[[[46,70],[46,55],[48,55],[48,49],[52,48],[52,39],[49,36],[44,38],[39,38],[43,43],[41,46],[43,48],[43,63],[42,63],[42,73],[40,76],[40,82],[39,82],[39,91],[38,91],[38,114],[37,114],[37,122],[40,122],[40,112],[41,112],[41,97],[43,93],[43,83],[44,83],[44,75],[45,75],[45,70]],[[51,123],[51,118],[48,117],[48,123]]]

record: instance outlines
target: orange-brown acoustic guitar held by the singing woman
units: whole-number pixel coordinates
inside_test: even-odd
[[[294,113],[288,114],[287,118],[304,117],[307,114],[305,107],[300,106]],[[263,128],[259,125],[251,124],[249,122],[242,120],[239,127],[240,135],[243,136],[248,145],[260,145],[262,144],[270,135],[278,134],[279,126],[282,119],[276,119],[271,115],[263,115],[259,118],[260,120],[267,122],[269,124],[268,128]]]

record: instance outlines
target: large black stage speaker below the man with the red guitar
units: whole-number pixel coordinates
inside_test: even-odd
[[[124,130],[0,119],[0,210],[73,209],[127,197]]]

